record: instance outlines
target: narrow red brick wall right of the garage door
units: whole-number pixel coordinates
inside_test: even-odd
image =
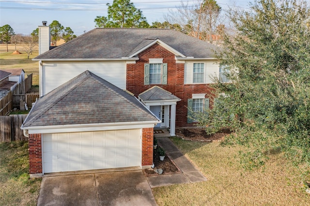
[[[153,164],[153,129],[142,129],[142,166]]]

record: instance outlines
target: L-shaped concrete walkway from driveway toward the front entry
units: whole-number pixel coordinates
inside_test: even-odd
[[[182,173],[171,175],[158,175],[146,177],[151,188],[173,184],[193,183],[206,181],[207,179],[195,166],[175,147],[168,137],[156,137],[157,143],[164,148],[166,155],[180,168]]]

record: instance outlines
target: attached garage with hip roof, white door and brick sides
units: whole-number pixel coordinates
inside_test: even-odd
[[[85,71],[38,99],[25,119],[30,176],[150,167],[158,123],[136,97]]]

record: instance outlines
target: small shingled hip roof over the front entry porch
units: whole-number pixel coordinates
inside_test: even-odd
[[[160,88],[158,86],[154,86],[149,88],[142,93],[139,94],[139,97],[143,101],[156,101],[156,100],[177,100],[180,101],[178,97],[173,95],[171,92]]]

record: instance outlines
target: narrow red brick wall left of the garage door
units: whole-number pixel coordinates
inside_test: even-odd
[[[29,134],[29,173],[42,173],[41,134]]]

